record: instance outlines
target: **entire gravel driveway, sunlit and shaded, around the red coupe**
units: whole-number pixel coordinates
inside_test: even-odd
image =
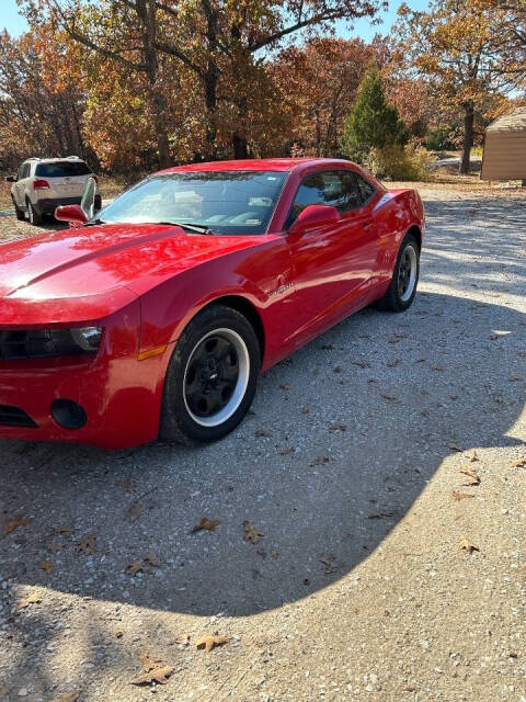
[[[526,702],[526,197],[422,194],[410,312],[265,373],[222,442],[0,442],[2,702]]]

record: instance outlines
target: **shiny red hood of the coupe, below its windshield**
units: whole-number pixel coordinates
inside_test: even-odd
[[[188,235],[172,225],[121,224],[3,244],[0,325],[22,324],[21,309],[30,308],[35,322],[38,309],[55,309],[57,321],[62,321],[72,314],[66,314],[66,308],[79,306],[82,318],[100,318],[169,276],[265,238]],[[53,321],[49,312],[45,316]]]

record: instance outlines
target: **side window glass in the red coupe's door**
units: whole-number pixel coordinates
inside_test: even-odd
[[[307,176],[296,193],[287,217],[290,227],[308,205],[331,205],[340,212],[359,207],[361,199],[352,171],[318,171]]]

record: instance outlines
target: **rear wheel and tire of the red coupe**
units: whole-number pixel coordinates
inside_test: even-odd
[[[391,283],[376,307],[384,312],[409,309],[416,294],[419,275],[420,246],[412,234],[407,234],[398,251]]]

